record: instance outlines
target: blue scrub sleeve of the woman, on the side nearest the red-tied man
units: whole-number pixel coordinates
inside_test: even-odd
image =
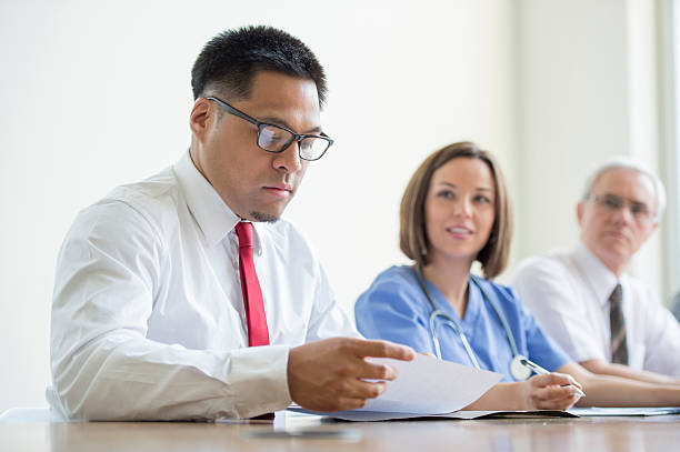
[[[419,308],[412,284],[403,279],[374,281],[354,304],[354,317],[366,338],[410,345],[418,353],[434,353],[428,315]]]

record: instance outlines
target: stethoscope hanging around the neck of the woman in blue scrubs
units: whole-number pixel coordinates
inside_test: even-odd
[[[472,361],[472,364],[474,365],[474,368],[481,369],[479,365],[479,361],[477,360],[477,355],[472,351],[472,348],[470,346],[470,342],[468,342],[468,338],[466,338],[466,334],[463,333],[462,329],[458,324],[458,321],[456,321],[456,319],[453,319],[451,315],[438,309],[434,302],[432,301],[432,297],[430,297],[430,291],[428,290],[428,285],[426,284],[424,278],[422,277],[422,270],[420,265],[416,265],[416,273],[418,274],[418,282],[420,283],[420,288],[424,292],[428,301],[430,302],[430,305],[432,307],[432,312],[430,313],[429,323],[430,323],[430,333],[432,334],[432,341],[434,342],[434,352],[437,353],[437,358],[441,360],[441,344],[439,343],[439,333],[437,329],[437,318],[441,318],[443,319],[442,323],[444,325],[456,331],[456,334],[458,334],[458,337],[460,338],[460,341],[462,342],[462,345],[466,349],[466,353],[470,358],[470,361]],[[512,331],[510,330],[510,327],[508,325],[508,321],[506,320],[506,317],[503,315],[501,310],[498,308],[498,304],[496,304],[493,299],[489,297],[489,294],[487,293],[487,290],[479,282],[479,277],[471,274],[470,280],[472,281],[474,285],[479,288],[479,290],[482,293],[483,299],[487,300],[489,304],[491,304],[491,308],[493,308],[493,311],[496,311],[496,314],[498,315],[501,324],[503,325],[503,330],[506,330],[506,337],[508,338],[508,342],[510,343],[510,349],[512,350],[512,360],[510,361],[510,374],[517,381],[524,381],[529,379],[529,376],[531,376],[531,369],[522,364],[522,361],[526,361],[527,358],[522,356],[519,353],[517,349],[517,343],[514,342],[514,338],[512,337]]]

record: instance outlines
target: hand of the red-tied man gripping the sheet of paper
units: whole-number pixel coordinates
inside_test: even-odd
[[[411,361],[413,350],[387,341],[333,338],[297,346],[288,358],[288,389],[300,406],[313,411],[344,411],[362,408],[382,394],[384,381],[394,380],[397,370],[370,363],[367,356]]]

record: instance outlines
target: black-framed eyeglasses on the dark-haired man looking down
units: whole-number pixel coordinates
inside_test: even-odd
[[[333,140],[331,140],[326,133],[321,132],[319,135],[311,134],[298,134],[292,130],[277,124],[269,124],[267,122],[258,121],[257,119],[243,113],[241,110],[231,107],[229,103],[221,99],[210,97],[206,98],[213,102],[217,102],[220,107],[227,110],[228,113],[239,117],[251,124],[258,127],[258,148],[267,152],[279,153],[288,149],[293,141],[298,142],[298,154],[302,160],[319,160],[323,157],[328,148],[331,147]]]

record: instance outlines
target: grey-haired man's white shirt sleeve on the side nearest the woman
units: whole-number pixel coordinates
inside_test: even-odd
[[[571,360],[607,360],[589,331],[583,300],[568,281],[559,262],[539,258],[521,265],[512,284],[520,301]]]

